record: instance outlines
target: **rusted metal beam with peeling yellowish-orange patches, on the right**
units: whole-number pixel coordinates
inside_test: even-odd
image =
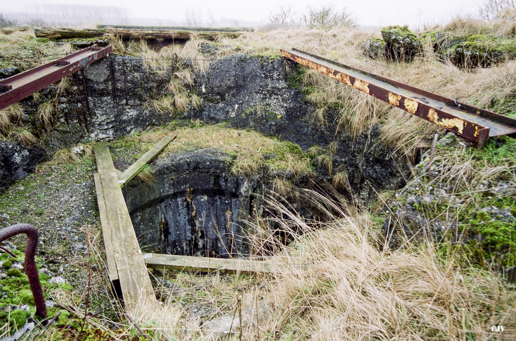
[[[516,137],[516,120],[298,49],[283,56],[464,136],[482,147],[492,136]]]

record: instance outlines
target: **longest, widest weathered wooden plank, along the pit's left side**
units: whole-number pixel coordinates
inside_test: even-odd
[[[93,150],[99,169],[124,304],[128,310],[142,304],[157,304],[107,143],[95,144]]]

